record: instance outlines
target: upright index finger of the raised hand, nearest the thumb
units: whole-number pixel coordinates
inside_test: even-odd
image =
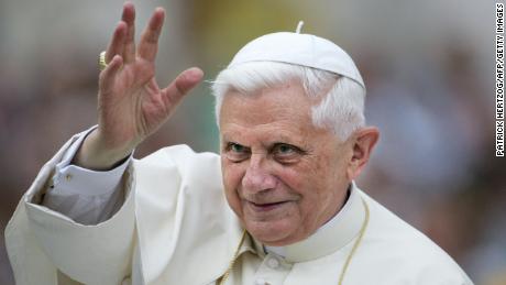
[[[165,11],[163,8],[156,8],[150,19],[150,23],[142,33],[141,42],[139,43],[139,56],[154,62],[156,52],[158,51],[158,39],[164,24]]]

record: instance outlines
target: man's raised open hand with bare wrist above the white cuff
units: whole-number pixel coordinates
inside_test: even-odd
[[[106,52],[108,66],[99,78],[98,128],[84,142],[75,164],[111,167],[155,132],[201,80],[202,72],[189,68],[164,89],[156,84],[155,57],[164,17],[165,11],[157,8],[135,46],[135,9],[132,3],[124,4]]]

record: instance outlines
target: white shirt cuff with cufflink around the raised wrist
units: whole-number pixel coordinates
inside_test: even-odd
[[[81,224],[106,221],[121,208],[124,201],[121,177],[133,160],[130,155],[121,165],[106,172],[72,165],[82,141],[95,128],[80,134],[65,152],[42,200],[42,205]]]

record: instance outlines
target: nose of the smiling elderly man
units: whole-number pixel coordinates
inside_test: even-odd
[[[266,165],[262,163],[262,158],[252,155],[246,173],[242,178],[242,187],[244,190],[258,193],[276,187],[277,178],[270,173]]]

